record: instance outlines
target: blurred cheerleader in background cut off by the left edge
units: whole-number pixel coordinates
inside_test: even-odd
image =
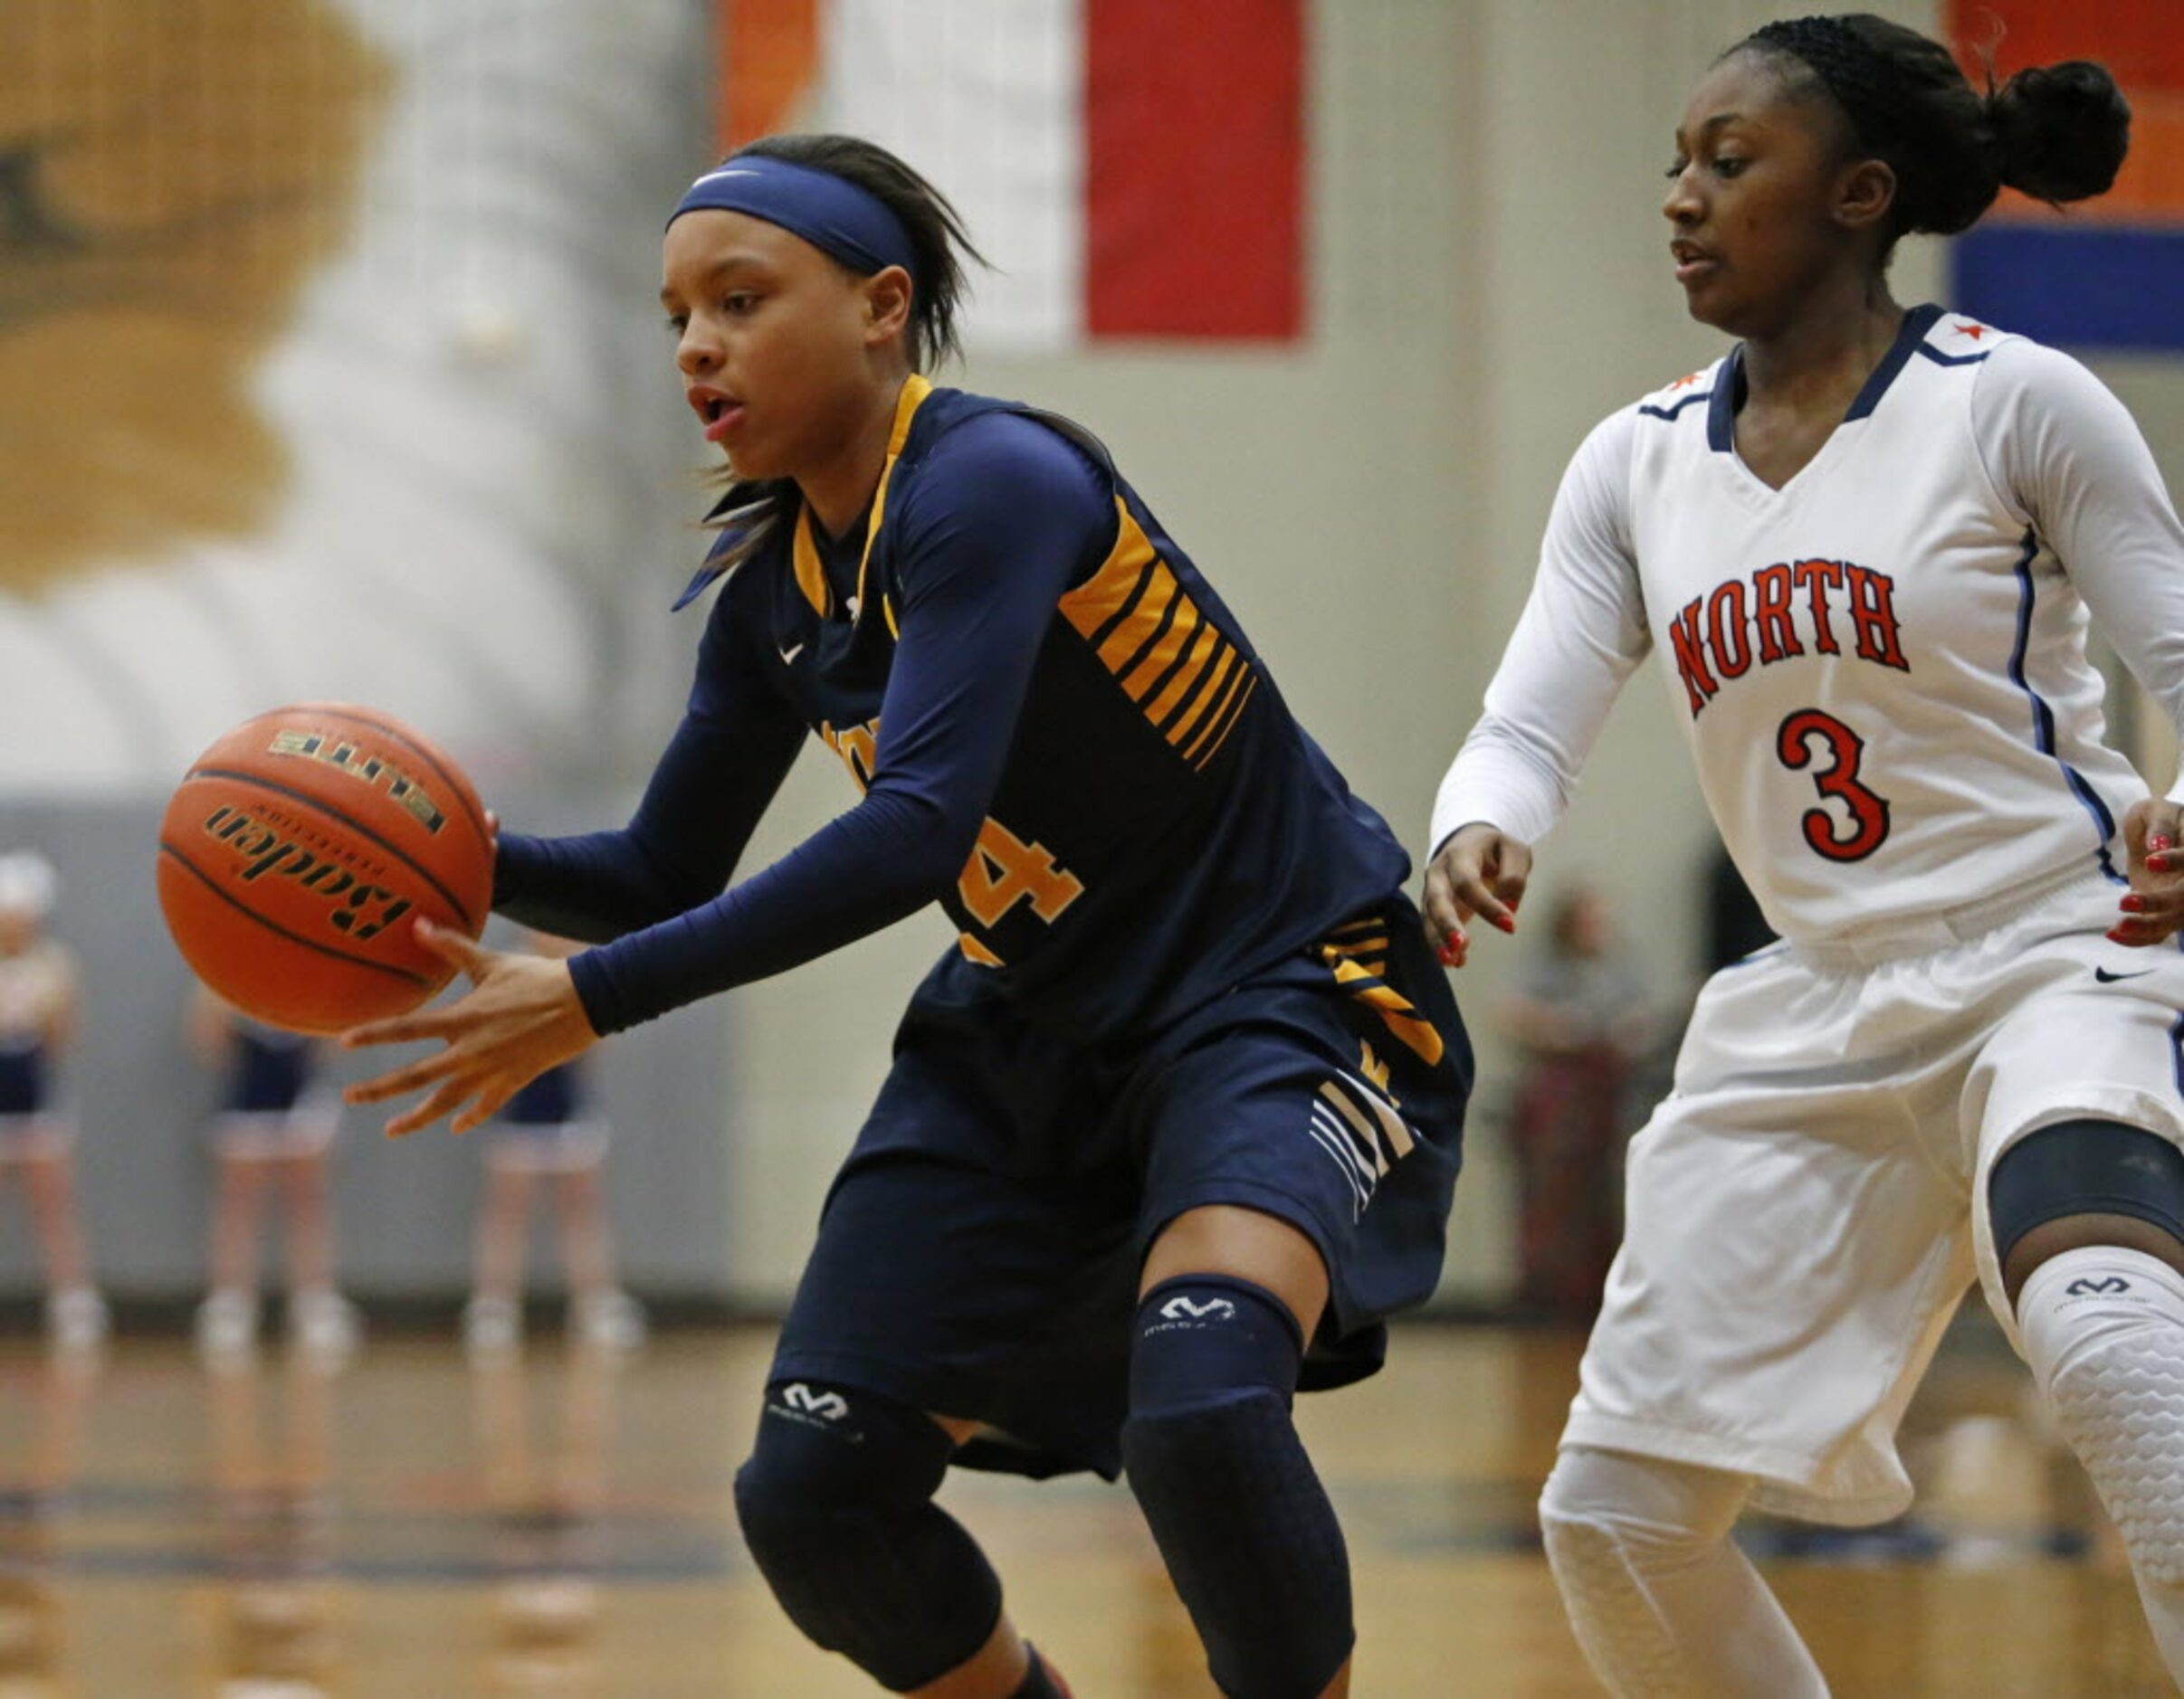
[[[0,1177],[20,1175],[31,1205],[48,1336],[59,1350],[92,1350],[107,1334],[107,1306],[76,1216],[76,1122],[55,1092],[81,1015],[76,959],[46,935],[57,893],[44,856],[0,856]]]

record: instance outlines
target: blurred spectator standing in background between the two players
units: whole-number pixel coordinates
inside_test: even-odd
[[[1518,1168],[1518,1308],[1586,1321],[1623,1238],[1623,1142],[1631,1077],[1660,1009],[1621,954],[1614,917],[1590,887],[1562,893],[1546,948],[1498,1009],[1520,1050],[1509,1142]]]

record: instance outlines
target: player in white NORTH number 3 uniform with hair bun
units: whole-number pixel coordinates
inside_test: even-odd
[[[1618,1695],[1826,1692],[1730,1526],[1907,1505],[1896,1422],[1974,1278],[2184,1673],[2184,784],[2103,745],[2086,660],[2099,622],[2184,725],[2184,528],[2088,371],[1885,284],[2003,181],[2105,190],[2127,122],[2097,66],[1979,96],[1870,15],[1717,61],[1664,212],[1741,345],[1577,452],[1435,806],[1461,965],[1651,651],[1784,939],[1708,983],[1631,1146],[1540,1505]]]

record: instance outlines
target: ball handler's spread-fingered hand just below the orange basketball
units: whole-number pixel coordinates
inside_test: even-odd
[[[446,1044],[439,1055],[343,1092],[349,1103],[380,1103],[428,1085],[415,1109],[387,1122],[389,1138],[415,1133],[441,1116],[454,1116],[450,1129],[467,1133],[548,1068],[598,1042],[566,961],[487,950],[422,919],[417,941],[470,974],[470,994],[443,1009],[373,1020],[341,1035],[347,1050],[426,1037]]]

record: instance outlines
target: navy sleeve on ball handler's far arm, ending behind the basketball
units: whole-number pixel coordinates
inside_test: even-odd
[[[806,736],[751,653],[756,598],[736,592],[732,577],[705,625],[681,725],[629,825],[568,839],[502,832],[494,908],[605,943],[721,895]]]

